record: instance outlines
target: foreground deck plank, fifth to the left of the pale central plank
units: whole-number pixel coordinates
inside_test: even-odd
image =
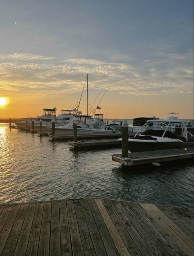
[[[72,256],[70,227],[66,200],[59,202],[60,231],[61,231],[61,256]]]

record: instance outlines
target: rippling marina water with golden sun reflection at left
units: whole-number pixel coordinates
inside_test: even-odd
[[[0,124],[0,203],[101,197],[193,207],[193,161],[126,168],[121,149],[70,150]]]

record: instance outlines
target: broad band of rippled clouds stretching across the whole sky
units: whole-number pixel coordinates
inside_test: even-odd
[[[129,64],[98,59],[66,59],[58,63],[0,63],[0,88],[44,93],[80,92],[89,74],[89,87],[125,95],[167,95],[193,93],[192,53],[165,54],[163,60]],[[30,55],[40,56],[40,55]],[[17,58],[16,58],[17,59]],[[24,61],[23,61],[24,60]],[[144,62],[146,61],[146,65]]]

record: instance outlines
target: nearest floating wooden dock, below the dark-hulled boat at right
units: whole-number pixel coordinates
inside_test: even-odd
[[[122,157],[121,154],[113,154],[112,160],[118,163],[122,163],[126,166],[141,165],[145,163],[160,163],[181,159],[194,158],[193,147],[187,147],[187,150],[183,148],[171,149],[171,150],[154,150],[144,152],[129,153],[129,157]]]

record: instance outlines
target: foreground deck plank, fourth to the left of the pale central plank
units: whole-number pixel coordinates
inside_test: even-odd
[[[67,201],[67,208],[73,255],[84,256],[74,203],[72,201]]]

